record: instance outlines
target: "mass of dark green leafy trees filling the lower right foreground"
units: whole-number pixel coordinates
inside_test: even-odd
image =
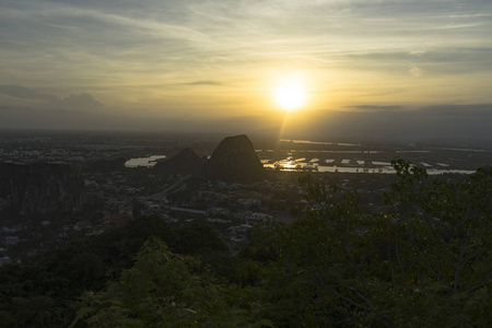
[[[364,214],[355,192],[307,178],[309,212],[260,233],[277,255],[255,273],[266,317],[318,327],[492,323],[492,171],[453,181],[393,165],[385,211]]]

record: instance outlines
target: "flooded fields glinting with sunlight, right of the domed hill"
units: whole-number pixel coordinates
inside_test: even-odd
[[[277,150],[257,150],[267,169],[286,172],[395,174],[391,160],[401,157],[430,175],[471,174],[492,164],[492,150],[415,145],[363,145],[356,143],[283,140]]]

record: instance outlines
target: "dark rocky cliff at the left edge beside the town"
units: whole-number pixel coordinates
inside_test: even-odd
[[[78,212],[84,181],[66,164],[0,163],[0,211],[22,215]]]

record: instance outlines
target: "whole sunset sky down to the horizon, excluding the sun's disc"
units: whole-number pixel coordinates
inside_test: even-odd
[[[274,98],[285,81],[306,93],[289,114]],[[0,128],[492,138],[491,126],[490,0],[0,1]]]

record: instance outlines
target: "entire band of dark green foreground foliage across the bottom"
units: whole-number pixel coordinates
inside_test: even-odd
[[[307,177],[305,215],[259,225],[236,257],[207,226],[172,230],[148,218],[37,267],[2,268],[0,323],[491,326],[492,168],[452,180],[393,164],[397,181],[378,211],[366,214],[354,191]]]

